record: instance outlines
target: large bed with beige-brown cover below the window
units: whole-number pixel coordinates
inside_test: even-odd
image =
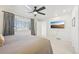
[[[52,54],[49,40],[36,36],[5,36],[0,54]]]

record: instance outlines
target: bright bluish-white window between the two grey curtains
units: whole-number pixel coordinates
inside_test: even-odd
[[[31,24],[30,19],[16,16],[14,23],[15,23],[14,24],[15,31],[19,31],[19,30],[23,31],[27,29],[30,30],[30,24]]]

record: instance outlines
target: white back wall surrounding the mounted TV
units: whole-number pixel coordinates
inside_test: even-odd
[[[67,15],[63,15],[63,16],[59,16],[59,17],[55,17],[53,19],[61,19],[64,20],[64,28],[63,29],[50,29],[50,24],[47,21],[47,34],[49,37],[52,37],[53,39],[61,39],[61,40],[67,40],[67,41],[71,41],[71,14],[67,14]]]

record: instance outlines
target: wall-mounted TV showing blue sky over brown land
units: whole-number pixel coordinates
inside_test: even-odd
[[[64,20],[50,20],[50,28],[64,28]]]

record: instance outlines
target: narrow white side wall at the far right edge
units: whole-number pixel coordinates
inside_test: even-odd
[[[78,6],[72,10],[72,19],[75,17],[75,27],[72,27],[72,46],[75,48],[76,53],[79,53],[79,18]]]

